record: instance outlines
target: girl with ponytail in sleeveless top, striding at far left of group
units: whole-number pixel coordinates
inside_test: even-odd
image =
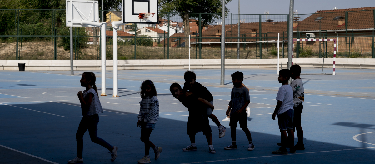
[[[117,157],[117,147],[112,146],[105,140],[99,138],[96,134],[98,130],[99,115],[103,113],[102,105],[98,97],[98,88],[95,85],[96,77],[92,72],[84,72],[80,80],[81,86],[86,87],[83,92],[78,92],[78,99],[81,102],[81,109],[83,118],[78,126],[77,134],[77,157],[69,160],[68,163],[83,163],[83,135],[89,130],[91,141],[107,148],[111,153],[111,160],[114,161]]]

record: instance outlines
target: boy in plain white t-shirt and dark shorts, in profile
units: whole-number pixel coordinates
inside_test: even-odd
[[[294,132],[293,132],[293,89],[289,85],[288,80],[292,73],[288,69],[279,71],[279,83],[282,86],[279,88],[276,100],[275,111],[273,112],[272,119],[275,120],[276,115],[278,116],[279,129],[281,133],[281,148],[277,151],[273,151],[272,154],[288,154],[287,146],[289,145],[290,153],[296,153],[294,149]],[[287,133],[289,140],[287,140]]]

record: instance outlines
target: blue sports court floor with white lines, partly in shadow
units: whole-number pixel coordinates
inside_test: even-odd
[[[150,140],[163,151],[154,164],[232,164],[232,163],[374,163],[375,156],[375,70],[336,69],[336,75],[318,75],[321,69],[302,68],[305,88],[302,127],[305,150],[296,154],[273,155],[279,149],[280,131],[271,119],[276,94],[281,86],[275,69],[226,69],[225,86],[220,86],[219,69],[195,69],[196,81],[206,86],[214,97],[213,114],[227,128],[218,137],[217,126],[210,120],[216,154],[208,152],[202,132],[196,134],[198,151],[183,152],[190,144],[186,132],[187,109],[176,100],[169,86],[183,85],[186,70],[119,70],[118,94],[112,98],[113,72],[107,70],[107,96],[100,101],[98,136],[118,147],[117,159],[102,146],[84,135],[83,158],[90,164],[136,163],[144,155],[141,129],[136,126],[141,81],[154,82],[159,99],[159,121]],[[231,89],[231,74],[240,71],[250,89],[249,130],[255,145],[247,151],[248,140],[237,127],[235,150],[224,150],[231,143],[226,117]],[[81,74],[75,71],[1,71],[0,72],[0,163],[65,164],[76,156],[78,124],[82,118],[77,92]],[[101,71],[96,85],[101,88]],[[324,70],[332,73],[332,69]],[[295,142],[297,143],[297,135]]]

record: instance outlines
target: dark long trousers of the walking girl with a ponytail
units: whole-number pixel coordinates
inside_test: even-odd
[[[98,137],[96,132],[98,131],[99,115],[84,116],[81,119],[80,125],[78,126],[75,138],[77,139],[77,157],[82,158],[83,154],[83,135],[89,130],[91,141],[104,146],[109,151],[113,150],[113,146],[105,142],[105,140]]]

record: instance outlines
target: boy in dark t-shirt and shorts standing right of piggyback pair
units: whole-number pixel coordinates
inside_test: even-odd
[[[246,137],[249,140],[249,147],[248,150],[254,150],[255,146],[251,140],[251,133],[248,129],[248,116],[246,115],[246,107],[250,103],[250,95],[249,90],[242,85],[243,81],[243,73],[242,72],[235,72],[232,76],[232,83],[233,89],[231,93],[231,101],[232,103],[229,104],[228,110],[226,111],[226,115],[229,115],[231,119],[229,121],[229,126],[231,127],[231,137],[232,137],[232,144],[226,146],[224,149],[237,149],[236,145],[236,128],[237,122],[240,122],[240,127],[245,132]]]

